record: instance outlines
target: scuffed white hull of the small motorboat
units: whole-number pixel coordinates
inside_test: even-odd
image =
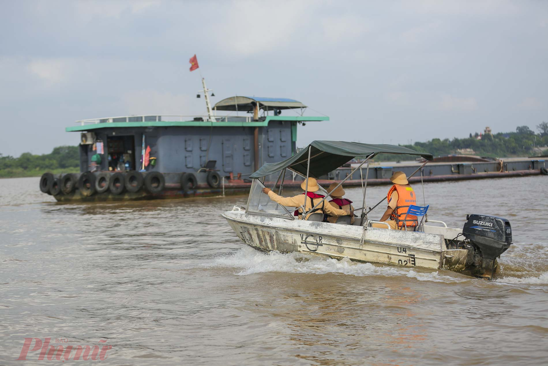
[[[260,250],[349,257],[402,267],[466,270],[467,249],[448,250],[459,229],[425,226],[426,233],[290,220],[227,211],[222,215],[244,243]]]

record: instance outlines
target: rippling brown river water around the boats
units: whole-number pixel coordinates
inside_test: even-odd
[[[25,337],[111,345],[96,362],[116,365],[546,364],[547,184],[425,184],[431,219],[510,219],[486,281],[255,251],[220,216],[244,196],[56,204],[38,178],[0,179],[0,364],[20,364]],[[360,192],[347,189],[357,207]],[[36,342],[24,363],[56,362]]]

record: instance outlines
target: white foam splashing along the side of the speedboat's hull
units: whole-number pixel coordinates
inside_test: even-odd
[[[328,257],[302,253],[264,253],[250,247],[242,247],[233,254],[215,258],[213,266],[237,268],[236,275],[266,272],[288,273],[342,273],[356,276],[406,276],[419,281],[462,282],[467,279],[454,278],[438,272],[417,272],[419,269],[405,269],[393,266],[374,266],[371,263],[352,262],[348,258],[335,260]]]

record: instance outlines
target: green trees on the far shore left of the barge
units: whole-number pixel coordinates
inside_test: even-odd
[[[79,171],[77,146],[59,146],[49,154],[23,153],[19,157],[0,154],[0,177],[35,177],[44,172]]]

